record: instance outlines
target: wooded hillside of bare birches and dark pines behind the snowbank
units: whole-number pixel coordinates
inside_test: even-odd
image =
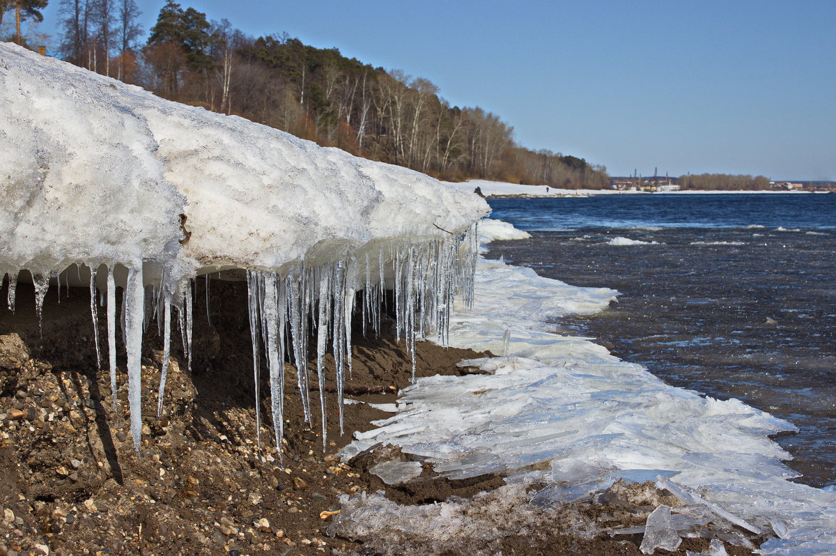
[[[0,0],[0,17],[40,20],[46,4]],[[314,48],[286,33],[253,38],[172,0],[145,44],[135,0],[62,0],[60,12],[62,59],[166,99],[441,179],[609,186],[604,166],[523,148],[499,116],[451,106],[427,79],[373,68],[337,48]],[[25,43],[19,31],[13,40]]]

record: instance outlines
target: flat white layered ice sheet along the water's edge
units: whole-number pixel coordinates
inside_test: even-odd
[[[482,258],[475,283],[450,344],[502,356],[462,363],[486,375],[418,380],[395,416],[355,435],[346,457],[384,442],[453,479],[500,472],[510,481],[526,480],[521,467],[552,462],[554,482],[589,490],[638,473],[728,523],[775,536],[763,553],[836,553],[836,492],[789,482],[797,473],[781,460],[791,457],[767,438],[793,431],[791,423],[666,385],[587,339],[547,331],[549,319],[604,309],[616,292]]]

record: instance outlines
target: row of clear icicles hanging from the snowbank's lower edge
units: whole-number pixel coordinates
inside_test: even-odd
[[[285,391],[284,362],[293,361],[298,377],[304,420],[313,426],[314,408],[310,400],[310,380],[319,385],[319,409],[323,446],[326,437],[325,416],[325,354],[328,349],[336,368],[339,429],[343,432],[343,386],[345,372],[351,374],[351,321],[361,313],[363,334],[380,334],[382,314],[395,309],[395,335],[405,339],[412,358],[415,379],[415,342],[428,334],[437,334],[446,345],[454,298],[461,295],[466,306],[472,304],[473,275],[477,259],[477,227],[468,232],[451,234],[429,241],[381,243],[375,252],[340,259],[320,266],[302,264],[290,272],[279,274],[266,270],[247,270],[248,309],[252,334],[252,366],[255,379],[257,423],[261,423],[259,376],[266,360],[269,371],[273,431],[279,457],[283,437],[283,401]],[[116,285],[113,267],[106,269],[107,287],[97,296],[96,273],[92,268],[89,280],[90,313],[94,322],[96,359],[102,367],[99,348],[99,304],[107,311],[107,347],[110,387],[113,404],[117,406],[116,386]],[[81,277],[80,266],[78,268]],[[69,287],[69,269],[64,273]],[[8,306],[14,309],[17,273],[8,273]],[[35,306],[41,317],[43,300],[51,278],[57,278],[59,299],[61,274],[33,274]],[[209,317],[209,279],[206,279],[206,316]],[[136,451],[140,449],[141,418],[141,348],[142,334],[150,320],[155,319],[158,334],[163,337],[163,356],[157,416],[161,416],[166,389],[169,355],[171,353],[171,309],[176,309],[183,351],[191,371],[191,329],[194,305],[192,280],[180,283],[144,285],[142,265],[128,268],[120,310],[120,328],[127,352],[130,432]],[[360,291],[362,290],[362,292]],[[391,292],[391,295],[389,295]],[[394,308],[387,308],[394,303]],[[308,363],[308,342],[315,334],[315,365]],[[313,367],[313,368],[312,368]],[[117,411],[118,415],[118,411]],[[260,426],[257,442],[261,449]]]

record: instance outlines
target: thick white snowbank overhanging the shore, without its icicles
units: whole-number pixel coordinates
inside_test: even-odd
[[[178,254],[186,274],[289,268],[373,240],[461,232],[488,210],[400,166],[168,102],[12,44],[0,55],[6,272]],[[191,237],[178,253],[181,213]]]

